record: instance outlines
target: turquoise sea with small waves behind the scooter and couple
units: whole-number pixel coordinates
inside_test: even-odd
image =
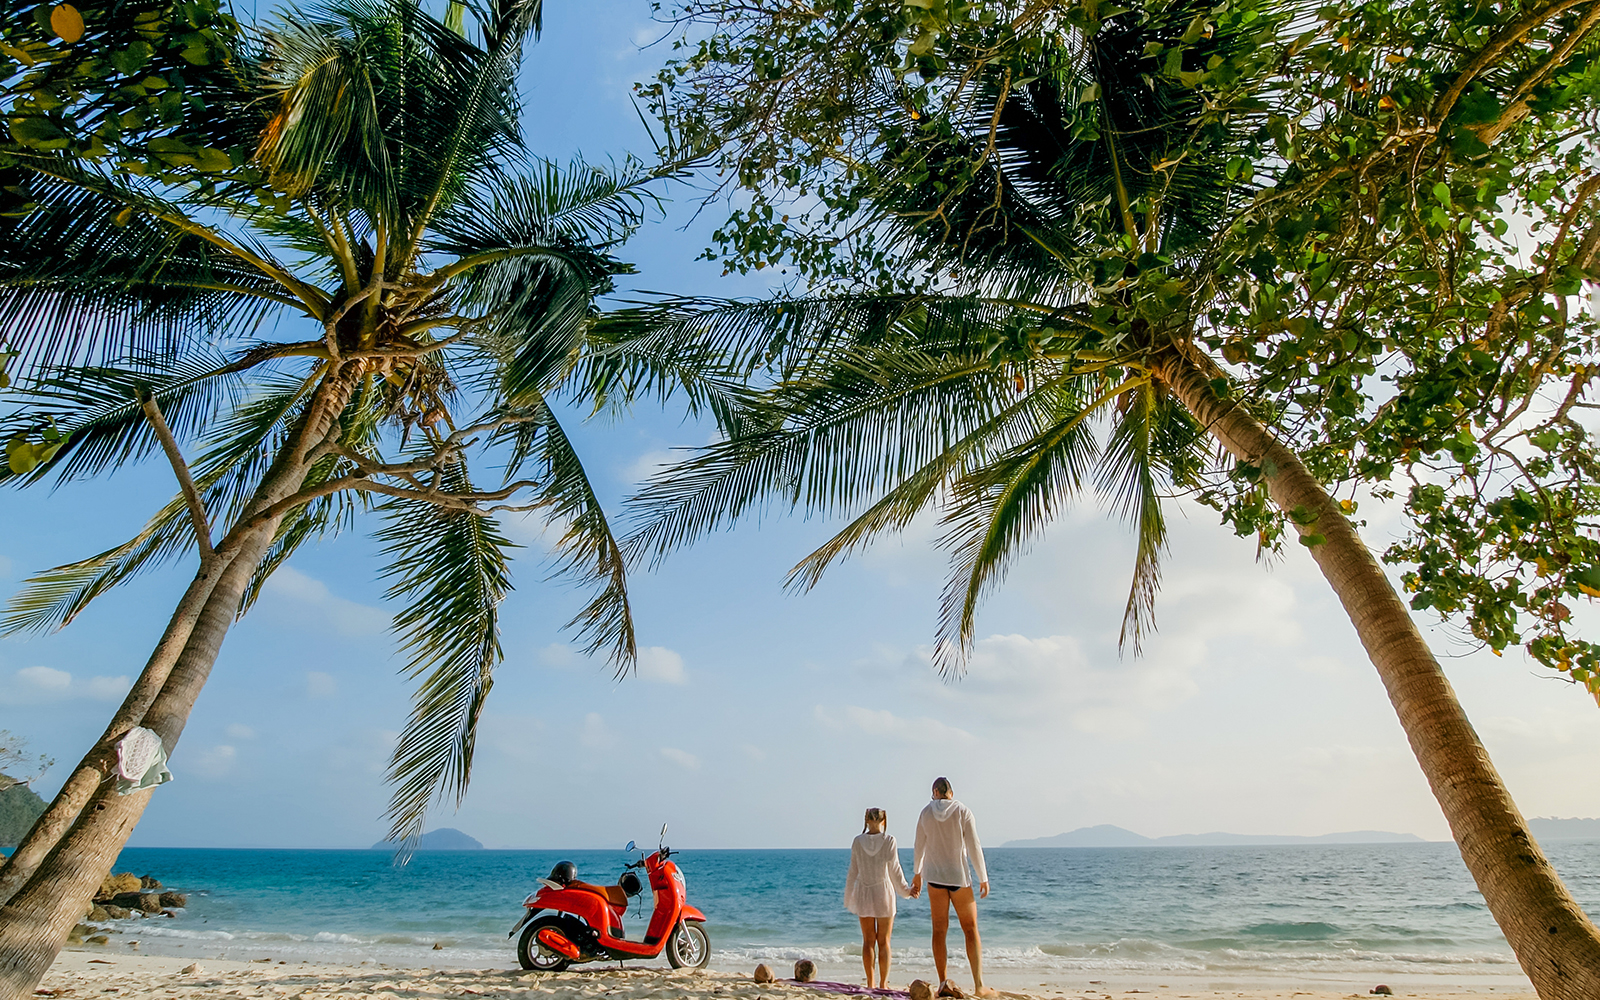
[[[1600,915],[1600,842],[1549,853]],[[910,853],[902,859],[910,870]],[[1107,976],[1517,978],[1510,950],[1451,843],[989,850],[979,904],[986,965],[1064,984]],[[614,880],[621,851],[126,850],[117,870],[189,893],[173,918],[122,920],[107,949],[286,962],[514,966],[506,938],[557,861]],[[694,851],[678,864],[709,917],[714,968],[810,957],[856,966],[843,910],[848,851]],[[646,914],[629,912],[643,928]],[[434,949],[434,944],[442,949]],[[928,965],[925,901],[902,901],[899,968]],[[952,954],[960,936],[952,933]],[[859,971],[859,970],[858,970]]]

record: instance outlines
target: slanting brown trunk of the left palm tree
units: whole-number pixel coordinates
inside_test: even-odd
[[[171,754],[182,736],[200,690],[222,650],[250,578],[266,557],[282,517],[256,520],[259,510],[290,498],[304,483],[307,453],[330,432],[349,402],[354,379],[328,379],[299,432],[262,477],[250,507],[218,550],[235,555],[221,570],[142,725]],[[91,790],[64,837],[45,854],[32,877],[0,907],[0,1000],[26,1000],[61,952],[72,926],[88,912],[94,891],[110,874],[154,789],[117,795],[114,782]]]

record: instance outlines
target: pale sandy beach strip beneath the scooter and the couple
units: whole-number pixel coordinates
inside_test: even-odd
[[[198,968],[192,968],[198,965]],[[192,971],[184,971],[190,968]],[[789,970],[776,970],[784,974]],[[952,970],[954,971],[954,970]],[[861,982],[861,970],[824,966],[824,979]],[[891,973],[890,984],[904,989]],[[1010,976],[1008,976],[1010,979]],[[1526,986],[1430,986],[1386,981],[1397,997],[1456,1000],[1507,997],[1536,1000]],[[1008,1000],[1350,1000],[1366,987],[1344,982],[1221,982],[1163,978],[1134,982],[1107,976],[1083,984],[1051,984],[1026,992],[997,982]],[[42,998],[61,1000],[840,1000],[840,994],[778,982],[757,986],[749,971],[680,971],[666,968],[525,973],[512,970],[334,966],[290,962],[237,962],[130,955],[106,949],[66,950],[40,984]]]

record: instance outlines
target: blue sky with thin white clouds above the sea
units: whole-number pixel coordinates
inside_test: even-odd
[[[552,0],[526,75],[534,149],[648,152],[629,86],[664,58],[648,5]],[[686,192],[680,192],[686,194]],[[693,258],[677,202],[627,248],[635,288],[755,294]],[[672,413],[573,429],[613,510],[707,430]],[[6,493],[0,589],[133,534],[171,494],[162,464],[56,493]],[[1394,533],[1371,509],[1365,534]],[[1376,674],[1304,552],[1254,562],[1203,509],[1174,541],[1142,659],[1117,654],[1131,541],[1070,512],[986,606],[958,683],[926,659],[944,574],[914,525],[806,595],[784,571],[829,525],[771,512],[634,578],[645,646],[614,682],[560,624],[579,595],[544,582],[538,523],[502,606],[507,659],[483,718],[459,827],[490,846],[610,846],[670,822],[686,846],[840,846],[866,806],[909,832],[949,774],[987,843],[1114,822],[1147,835],[1448,830]],[[134,845],[365,846],[382,834],[384,763],[408,707],[374,546],[298,555],[230,635]],[[58,757],[53,792],[142,666],[192,566],[141,578],[70,629],[0,640],[0,728]],[[1458,691],[1530,816],[1600,814],[1600,709],[1515,653],[1434,632]]]

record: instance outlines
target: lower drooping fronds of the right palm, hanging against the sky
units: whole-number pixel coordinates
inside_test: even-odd
[[[606,317],[602,331],[653,320],[656,336],[718,331],[746,355],[774,358],[770,387],[744,400],[726,440],[632,501],[630,549],[659,558],[773,502],[853,515],[792,570],[790,584],[810,587],[834,560],[938,512],[952,563],[938,658],[958,672],[982,594],[1054,515],[1098,491],[1136,525],[1125,638],[1138,648],[1166,538],[1160,496],[1192,480],[1200,432],[1106,355],[997,358],[998,338],[1030,315],[979,298],[837,296]]]

